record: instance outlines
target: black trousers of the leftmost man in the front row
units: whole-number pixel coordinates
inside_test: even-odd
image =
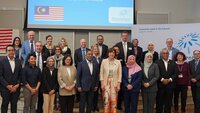
[[[11,105],[11,113],[17,113],[17,101],[19,99],[20,89],[16,92],[10,93],[8,90],[1,91],[2,104],[1,113],[8,113],[8,104]]]

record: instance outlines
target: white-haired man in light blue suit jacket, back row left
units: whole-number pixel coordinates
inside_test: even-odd
[[[35,51],[35,32],[29,31],[27,33],[28,40],[24,41],[22,44],[22,58],[24,60],[24,63],[26,62],[26,57],[29,53],[32,53]]]

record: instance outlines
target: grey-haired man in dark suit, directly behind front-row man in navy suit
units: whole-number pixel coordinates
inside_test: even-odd
[[[80,62],[82,62],[83,60],[85,60],[85,55],[86,55],[86,52],[89,50],[86,45],[87,45],[87,42],[84,38],[82,38],[80,40],[80,45],[81,47],[76,49],[75,50],[75,53],[74,53],[74,62],[75,62],[75,65],[76,67],[78,66],[78,64]]]

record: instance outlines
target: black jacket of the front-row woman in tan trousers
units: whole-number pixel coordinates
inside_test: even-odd
[[[54,69],[51,75],[51,72],[48,67],[45,67],[42,70],[42,92],[48,94],[51,90],[58,91],[58,69]]]

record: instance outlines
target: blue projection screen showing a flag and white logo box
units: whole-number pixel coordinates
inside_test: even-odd
[[[134,0],[28,0],[27,28],[131,29]]]

